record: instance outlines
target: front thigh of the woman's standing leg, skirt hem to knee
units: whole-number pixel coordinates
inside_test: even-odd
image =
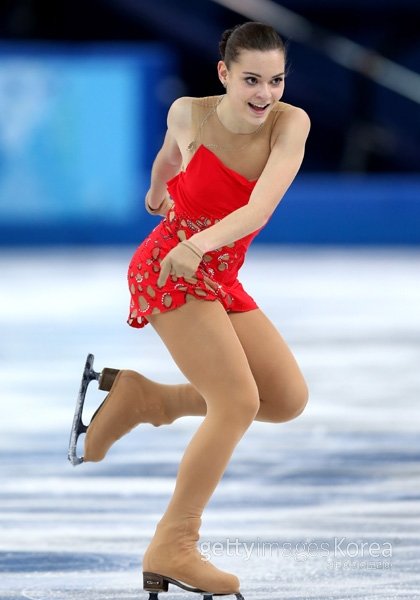
[[[208,410],[240,413],[248,419],[259,408],[256,382],[247,356],[223,306],[191,300],[148,316],[174,361],[204,397]]]

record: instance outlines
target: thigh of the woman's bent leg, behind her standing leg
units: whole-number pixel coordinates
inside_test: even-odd
[[[283,422],[298,416],[308,389],[295,357],[260,310],[229,313],[256,381],[261,409],[257,420]]]

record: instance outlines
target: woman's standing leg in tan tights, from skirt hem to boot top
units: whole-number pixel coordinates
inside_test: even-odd
[[[176,507],[186,516],[197,516],[254,420],[258,390],[242,345],[219,302],[192,300],[175,311],[151,317],[150,322],[207,405],[206,417],[184,455],[168,507],[169,512]],[[191,473],[197,480],[204,471],[205,486],[191,482]],[[193,483],[188,491],[183,487],[184,472],[187,485]],[[188,492],[186,497],[184,492]]]

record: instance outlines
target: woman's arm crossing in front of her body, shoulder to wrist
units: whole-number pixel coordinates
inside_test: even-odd
[[[288,110],[281,118],[279,133],[248,204],[190,238],[203,253],[263,227],[295,178],[302,164],[310,120],[300,108]]]

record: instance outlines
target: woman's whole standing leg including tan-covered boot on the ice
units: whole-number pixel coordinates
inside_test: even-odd
[[[192,300],[151,317],[150,322],[204,398],[207,412],[185,450],[173,496],[146,551],[143,567],[146,572],[214,593],[232,593],[238,590],[237,579],[204,562],[195,544],[201,514],[258,411],[257,386],[219,302]]]

